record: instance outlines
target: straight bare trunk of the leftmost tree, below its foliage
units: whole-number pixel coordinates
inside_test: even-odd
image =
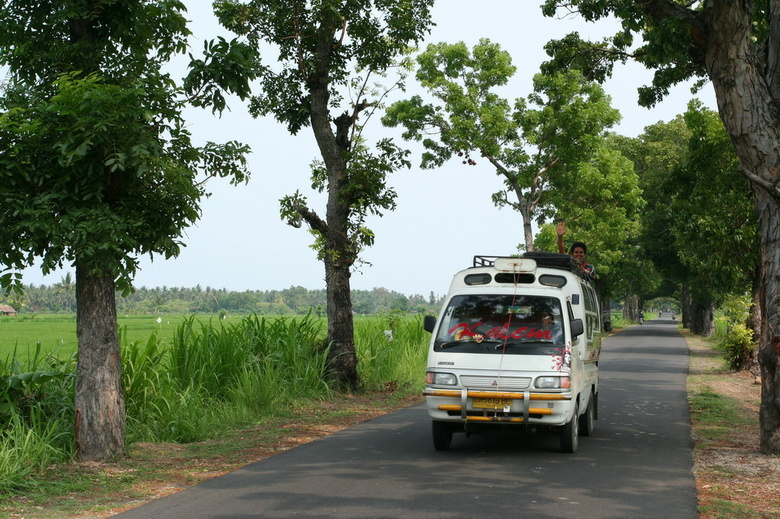
[[[76,266],[76,447],[85,461],[119,456],[125,444],[114,289],[110,274]]]

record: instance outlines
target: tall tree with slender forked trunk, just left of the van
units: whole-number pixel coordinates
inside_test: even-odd
[[[254,49],[253,116],[273,115],[296,134],[310,126],[319,147],[312,187],[327,193],[324,217],[296,192],[282,200],[282,217],[305,222],[325,266],[328,301],[329,375],[347,389],[359,386],[350,300],[350,276],[360,251],[373,243],[369,215],[395,207],[387,175],[408,166],[406,152],[390,140],[369,144],[366,119],[380,107],[379,80],[418,43],[431,26],[433,0],[219,0],[220,23],[240,37],[209,59],[195,63],[193,88],[222,74],[230,49]],[[274,53],[276,54],[274,56]],[[261,56],[262,54],[262,56]],[[249,55],[247,53],[247,55]],[[229,80],[226,80],[229,79]],[[240,78],[239,78],[240,79]],[[240,90],[240,88],[238,90]],[[218,92],[212,101],[219,104]],[[360,121],[359,121],[360,119]]]

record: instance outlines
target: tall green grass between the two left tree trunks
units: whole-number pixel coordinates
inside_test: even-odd
[[[128,439],[190,442],[245,425],[305,398],[324,397],[322,321],[185,319],[164,347],[123,346]]]

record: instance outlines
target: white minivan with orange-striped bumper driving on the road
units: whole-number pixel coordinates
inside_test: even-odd
[[[566,254],[475,256],[431,332],[425,400],[438,450],[453,433],[555,428],[564,452],[598,418],[600,312]]]

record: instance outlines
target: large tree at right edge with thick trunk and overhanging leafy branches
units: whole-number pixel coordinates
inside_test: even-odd
[[[552,42],[550,69],[576,66],[606,78],[618,61],[655,69],[640,89],[650,106],[669,88],[709,79],[718,112],[750,182],[761,229],[761,450],[780,453],[780,2],[777,0],[546,0],[544,13],[578,12],[589,21],[617,17],[621,30],[602,42],[576,34]],[[634,38],[641,36],[642,44]],[[713,186],[716,188],[716,186]]]

